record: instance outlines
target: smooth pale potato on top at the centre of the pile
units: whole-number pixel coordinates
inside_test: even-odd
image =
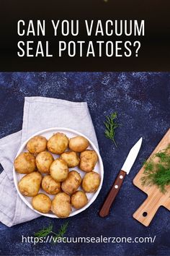
[[[68,176],[68,165],[63,159],[57,158],[50,166],[50,175],[55,182],[63,182]]]

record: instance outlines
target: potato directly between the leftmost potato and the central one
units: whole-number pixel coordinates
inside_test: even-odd
[[[43,151],[37,154],[35,158],[35,163],[37,165],[38,171],[42,174],[50,173],[50,165],[53,163],[54,158],[48,151]]]

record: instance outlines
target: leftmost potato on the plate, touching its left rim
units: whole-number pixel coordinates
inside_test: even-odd
[[[28,152],[20,153],[14,161],[14,168],[19,174],[30,174],[32,171],[35,171],[34,155]]]

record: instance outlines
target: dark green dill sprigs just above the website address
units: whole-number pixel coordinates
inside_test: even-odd
[[[63,223],[61,225],[61,228],[58,230],[58,232],[55,233],[53,231],[53,225],[51,224],[47,228],[43,228],[40,231],[37,231],[35,233],[35,236],[40,238],[40,237],[45,237],[45,236],[48,236],[49,234],[52,234],[53,235],[53,242],[57,243],[58,239],[62,238],[63,235],[66,234],[67,228],[68,228],[68,221],[66,223]]]

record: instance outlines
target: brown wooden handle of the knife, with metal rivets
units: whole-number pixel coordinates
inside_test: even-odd
[[[122,182],[125,179],[126,172],[120,171],[115,179],[115,183],[112,185],[112,189],[110,189],[109,194],[107,195],[104,204],[102,205],[101,210],[99,211],[100,217],[106,217],[109,215],[109,209],[112,206],[112,202],[115,200],[118,192],[120,191],[120,187],[122,186]]]

